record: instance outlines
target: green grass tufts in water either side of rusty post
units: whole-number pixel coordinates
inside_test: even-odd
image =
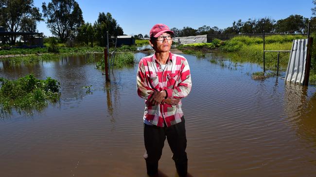
[[[134,65],[135,59],[134,54],[131,52],[124,52],[124,53],[116,53],[114,59],[114,67],[122,68],[126,65]],[[105,69],[105,62],[104,60],[97,62],[96,68]]]

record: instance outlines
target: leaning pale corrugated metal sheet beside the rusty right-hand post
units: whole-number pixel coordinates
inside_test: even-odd
[[[286,81],[303,84],[306,69],[307,42],[307,39],[297,39],[293,41],[285,75]]]

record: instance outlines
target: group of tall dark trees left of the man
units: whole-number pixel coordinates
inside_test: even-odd
[[[42,9],[43,14],[33,0],[0,0],[0,26],[12,32],[38,32],[36,22],[45,20],[59,42],[90,46],[105,46],[106,31],[109,37],[123,35],[123,29],[110,13],[99,13],[93,25],[85,23],[75,0],[43,2]],[[15,44],[17,35],[6,40]]]

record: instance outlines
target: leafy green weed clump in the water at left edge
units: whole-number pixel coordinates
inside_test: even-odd
[[[0,109],[1,113],[16,110],[41,110],[48,101],[55,103],[59,100],[59,82],[50,77],[39,80],[32,74],[17,80],[0,78]]]

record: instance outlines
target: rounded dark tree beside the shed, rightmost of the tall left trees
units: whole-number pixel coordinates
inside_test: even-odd
[[[123,35],[123,29],[112,18],[110,13],[106,13],[106,15],[104,12],[99,13],[98,20],[94,22],[93,28],[95,30],[95,38],[100,46],[106,45],[106,31],[108,31],[109,38]]]

